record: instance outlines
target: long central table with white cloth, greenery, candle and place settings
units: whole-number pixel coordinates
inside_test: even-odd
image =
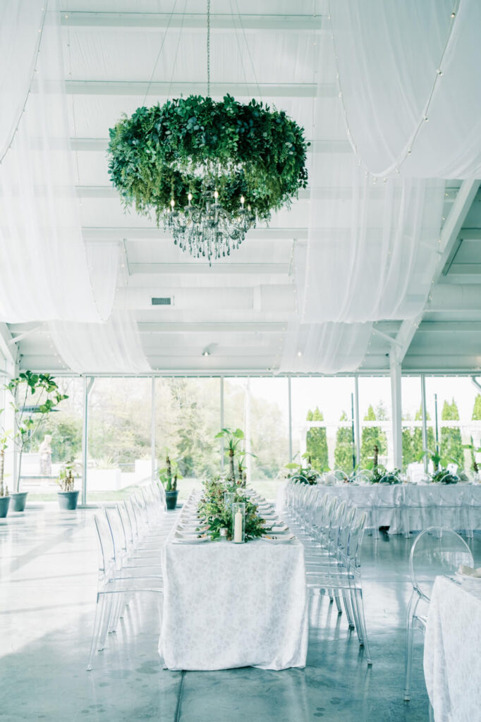
[[[252,490],[192,492],[162,551],[168,669],[306,665],[303,544]]]

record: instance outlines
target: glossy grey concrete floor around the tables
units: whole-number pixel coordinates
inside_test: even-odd
[[[170,672],[157,656],[155,601],[137,600],[85,671],[97,550],[92,512],[30,505],[0,520],[0,720],[19,722],[417,722],[428,720],[422,640],[403,703],[404,612],[412,541],[365,538],[373,667],[344,615],[313,607],[306,669]],[[471,544],[481,558],[481,538]]]

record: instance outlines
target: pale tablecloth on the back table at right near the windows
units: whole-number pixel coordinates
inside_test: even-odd
[[[286,490],[287,485],[277,500],[280,513]],[[481,484],[319,484],[316,490],[368,511],[368,526],[373,526],[371,512],[376,508],[377,525],[389,526],[389,534],[439,525],[468,529],[470,523],[481,529]],[[472,505],[473,497],[477,505]]]

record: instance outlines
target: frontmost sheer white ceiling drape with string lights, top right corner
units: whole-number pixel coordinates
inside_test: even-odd
[[[479,0],[331,0],[350,142],[383,176],[481,178]]]

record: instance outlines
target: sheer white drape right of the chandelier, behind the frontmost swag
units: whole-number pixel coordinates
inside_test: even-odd
[[[319,157],[312,179],[303,323],[415,317],[438,264],[444,182],[376,182],[352,153]],[[317,201],[318,183],[337,194]]]

